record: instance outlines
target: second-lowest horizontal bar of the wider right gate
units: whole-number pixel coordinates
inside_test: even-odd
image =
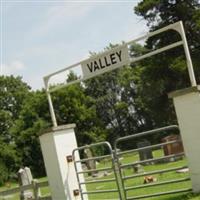
[[[129,190],[133,190],[133,189],[140,189],[140,188],[146,188],[146,187],[167,185],[167,184],[171,184],[171,183],[186,182],[186,181],[189,181],[189,180],[191,180],[190,177],[180,178],[180,179],[175,179],[175,180],[162,181],[162,182],[157,182],[157,183],[149,183],[149,184],[137,185],[137,186],[133,186],[133,187],[127,187],[127,188],[125,188],[125,190],[129,191]]]

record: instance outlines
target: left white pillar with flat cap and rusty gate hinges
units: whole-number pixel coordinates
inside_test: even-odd
[[[53,127],[40,136],[53,200],[81,199],[80,194],[74,196],[74,190],[79,190],[74,163],[68,163],[66,159],[72,155],[73,149],[77,148],[74,127],[75,124]],[[78,165],[78,170],[82,171],[81,164]],[[81,182],[84,181],[83,176],[80,179]]]

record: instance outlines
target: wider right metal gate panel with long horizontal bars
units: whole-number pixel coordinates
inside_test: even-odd
[[[160,154],[161,152],[163,153],[163,148],[170,148],[173,145],[176,147],[177,144],[181,143],[180,139],[174,139],[153,145],[148,144],[147,146],[145,145],[143,147],[137,147],[126,151],[117,150],[123,142],[128,141],[128,143],[130,143],[139,138],[141,139],[141,137],[142,139],[146,137],[150,140],[158,134],[159,137],[164,137],[164,135],[169,134],[167,132],[173,133],[177,131],[178,126],[173,125],[122,137],[115,141],[116,162],[119,168],[126,200],[143,199],[192,191],[188,173],[180,175],[174,174],[188,170],[187,166],[181,166],[181,164],[185,164],[182,160],[184,159],[183,151],[181,152],[179,149],[179,152],[168,152],[169,155],[159,155],[158,157],[156,156],[156,158],[153,158],[154,155],[152,155],[152,150],[154,150],[154,153],[157,151],[157,154]],[[126,162],[122,163],[123,160],[120,158],[127,154],[129,154],[129,156],[131,155],[131,161],[127,162],[126,159]],[[148,154],[150,154],[149,158],[147,156]],[[140,157],[140,159],[138,159],[138,157]],[[143,159],[141,159],[141,157]],[[178,178],[174,179],[174,175],[178,176]],[[181,182],[185,182],[186,184],[181,185]],[[169,187],[169,185],[177,189],[173,189],[171,186]]]

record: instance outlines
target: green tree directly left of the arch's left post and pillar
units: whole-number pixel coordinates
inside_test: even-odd
[[[10,132],[21,158],[20,164],[29,166],[35,177],[45,175],[39,136],[50,125],[45,91],[30,92]]]

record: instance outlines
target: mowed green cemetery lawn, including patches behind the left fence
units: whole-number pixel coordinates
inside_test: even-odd
[[[156,150],[153,152],[154,158],[161,157],[163,156],[162,150]],[[128,164],[128,163],[133,163],[135,161],[139,160],[139,155],[137,153],[132,153],[132,154],[126,154],[120,159],[121,164]],[[133,179],[128,179],[124,182],[125,187],[133,187],[133,186],[138,186],[138,185],[144,185],[146,186],[147,184],[143,184],[144,182],[144,176],[145,173],[148,173],[150,171],[156,171],[156,170],[162,170],[166,168],[174,168],[174,167],[182,167],[187,165],[187,160],[185,158],[173,161],[173,162],[165,162],[165,163],[159,163],[159,164],[151,164],[151,165],[146,165],[142,166],[143,172],[141,172],[141,177],[133,178]],[[111,167],[112,163],[109,159],[102,160],[98,165],[97,168],[105,168],[105,167]],[[129,167],[123,170],[123,175],[125,176],[130,176],[130,175],[135,175],[135,172],[133,170],[133,167]],[[101,172],[100,177],[95,177],[92,178],[91,176],[85,176],[85,179],[87,181],[92,181],[92,180],[102,180],[102,179],[111,179],[114,178],[114,173],[112,171],[107,171],[106,176],[104,176],[104,173]],[[189,172],[186,173],[177,173],[176,171],[172,172],[167,172],[167,173],[160,173],[160,174],[155,174],[153,177],[156,179],[156,182],[163,182],[163,181],[169,181],[173,179],[181,179],[185,177],[189,177]],[[46,177],[39,179],[39,181],[45,181],[47,180]],[[154,183],[148,183],[154,184]],[[16,187],[17,184],[12,183],[12,187]],[[103,182],[103,183],[92,183],[92,184],[87,184],[87,191],[101,191],[101,190],[112,190],[112,189],[117,189],[117,185],[115,182]],[[152,194],[152,193],[160,193],[160,192],[166,192],[166,191],[171,191],[171,190],[178,190],[178,189],[184,189],[184,188],[191,188],[191,182],[186,181],[186,182],[180,182],[180,183],[173,183],[173,184],[166,184],[162,186],[154,186],[154,187],[146,187],[146,188],[141,188],[141,189],[134,189],[130,190],[127,192],[128,197],[135,197],[135,196],[140,196],[140,195],[147,195],[147,194]],[[1,187],[0,191],[8,189],[7,187]],[[42,195],[48,195],[49,194],[49,188],[45,187],[41,189]],[[11,195],[10,197],[1,197],[0,200],[18,200],[19,199],[19,194],[16,195]],[[111,200],[111,199],[119,199],[117,192],[104,192],[104,193],[98,193],[98,194],[92,194],[89,195],[89,200]],[[154,200],[200,200],[200,195],[194,195],[192,193],[179,193],[179,194],[172,194],[172,195],[164,195],[164,196],[158,196],[154,198],[146,198],[146,199],[154,199]]]

